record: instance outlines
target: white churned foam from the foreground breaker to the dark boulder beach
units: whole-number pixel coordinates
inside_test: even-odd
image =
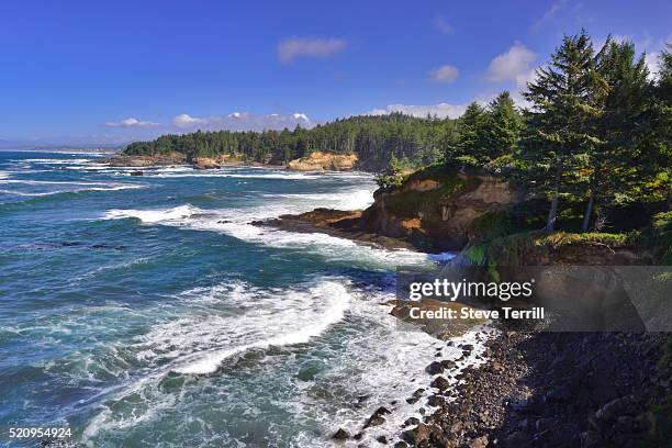
[[[227,395],[226,389],[217,391],[213,388],[223,388],[222,376],[225,376],[224,383],[234,381],[232,390],[239,391],[244,385],[238,381],[247,381],[246,374],[235,371],[253,369],[250,374],[265,376],[260,369],[266,367],[273,371],[282,388],[289,384],[296,388],[292,399],[275,402],[291,413],[292,419],[315,421],[325,435],[338,427],[355,434],[361,430],[362,422],[377,407],[384,405],[392,413],[385,415],[382,425],[366,429],[361,443],[373,443],[380,435],[395,440],[406,418],[415,416],[422,419],[419,408],[427,410],[426,397],[432,393],[430,389],[417,403],[407,404],[405,399],[418,388],[427,389],[433,377],[424,368],[437,359],[436,350],[443,350],[440,359],[461,356],[457,344],[446,346],[417,328],[400,327],[400,323],[388,313],[388,307],[379,305],[390,299],[388,293],[356,289],[343,278],[318,279],[315,287],[307,289],[302,285],[257,289],[242,282],[222,283],[186,291],[177,299],[182,305],[188,305],[191,315],[177,313],[176,320],[154,326],[128,347],[136,352],[138,361],[154,366],[154,370],[107,395],[109,404],[102,406],[85,429],[88,444],[94,444],[100,433],[163,425],[165,418],[169,418],[167,413],[188,413],[191,408],[189,397],[201,396],[205,391],[215,397],[214,402],[208,403],[221,403],[223,413],[238,408],[228,403],[233,396]],[[224,304],[226,306],[222,307]],[[339,325],[338,329],[335,325]],[[455,339],[456,343],[472,344],[474,349],[467,359],[458,362],[452,376],[468,365],[484,362],[483,339],[475,337],[481,331],[477,328]],[[310,346],[295,347],[304,343],[310,343]],[[271,347],[284,347],[284,355],[268,352]],[[255,360],[254,366],[248,362],[235,365],[234,370],[224,370],[219,376],[200,377],[216,371],[227,359],[250,350],[262,350],[259,354],[261,358]],[[314,379],[296,381],[296,372],[288,370],[287,366],[293,362],[292,350],[300,350],[303,354],[301,359],[314,359],[324,368]],[[197,377],[177,393],[160,385],[168,372]],[[322,390],[329,393],[320,392]],[[360,394],[369,396],[365,405],[351,406],[348,400]],[[246,406],[254,406],[253,397],[236,395],[237,400],[249,400],[244,402]],[[254,407],[249,412],[250,417],[254,416]],[[240,441],[234,438],[224,440],[227,446]],[[314,433],[299,434],[294,440],[298,447],[329,446],[331,443]]]

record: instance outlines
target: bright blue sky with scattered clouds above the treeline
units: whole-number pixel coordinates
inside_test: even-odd
[[[519,91],[564,33],[654,55],[669,1],[9,1],[0,141],[123,143],[359,113],[456,116]]]

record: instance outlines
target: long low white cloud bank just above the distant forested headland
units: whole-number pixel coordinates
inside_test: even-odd
[[[293,130],[298,124],[303,127],[312,127],[313,122],[305,113],[295,112],[291,115],[280,115],[271,113],[268,115],[257,115],[249,112],[233,112],[227,115],[192,116],[181,113],[172,117],[172,125],[183,131],[264,131]]]

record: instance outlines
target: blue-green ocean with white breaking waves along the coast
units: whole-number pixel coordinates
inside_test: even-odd
[[[385,302],[397,266],[450,256],[249,224],[365,208],[371,175],[135,169],[0,152],[0,425],[91,447],[318,447],[381,405],[359,443],[427,408],[405,399],[448,348]]]

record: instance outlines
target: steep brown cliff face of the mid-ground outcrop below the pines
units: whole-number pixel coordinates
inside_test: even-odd
[[[499,177],[432,168],[412,175],[399,188],[378,190],[361,226],[428,249],[459,250],[469,242],[474,220],[517,200]]]

